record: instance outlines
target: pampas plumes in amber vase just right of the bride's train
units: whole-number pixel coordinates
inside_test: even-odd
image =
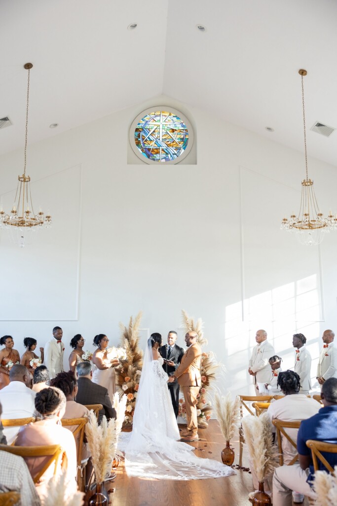
[[[225,396],[214,395],[215,412],[225,441],[233,439],[240,423],[240,398],[232,399],[231,393]]]

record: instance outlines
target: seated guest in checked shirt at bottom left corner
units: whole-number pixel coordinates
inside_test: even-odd
[[[1,434],[2,405],[0,404],[0,443],[7,444]],[[21,506],[40,506],[34,482],[22,457],[0,450],[0,502],[2,492],[19,492]]]

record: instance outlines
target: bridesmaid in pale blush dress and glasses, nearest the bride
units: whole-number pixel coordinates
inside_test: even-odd
[[[108,344],[109,339],[105,334],[95,335],[93,346],[98,346],[98,350],[95,350],[92,356],[92,363],[96,366],[92,372],[92,381],[108,389],[108,395],[113,404],[116,392],[114,367],[119,364],[119,360],[118,358],[107,358]]]

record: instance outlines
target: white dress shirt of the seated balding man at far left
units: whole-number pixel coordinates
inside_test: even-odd
[[[7,387],[0,390],[0,402],[3,406],[2,418],[28,418],[35,416],[35,395],[21,381],[11,381]],[[8,444],[15,440],[20,427],[4,427],[4,434]]]

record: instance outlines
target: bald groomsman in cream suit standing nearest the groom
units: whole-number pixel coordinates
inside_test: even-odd
[[[265,330],[257,330],[255,341],[257,345],[253,348],[248,372],[253,376],[256,395],[267,395],[265,384],[269,382],[271,372],[269,359],[275,355],[275,351],[267,341],[267,332]]]

